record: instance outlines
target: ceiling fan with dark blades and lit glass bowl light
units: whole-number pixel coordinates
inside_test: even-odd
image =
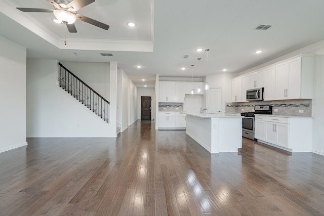
[[[97,20],[91,19],[84,15],[76,14],[79,9],[95,2],[95,0],[46,0],[48,3],[54,6],[53,9],[42,9],[42,8],[17,8],[22,12],[45,12],[52,13],[60,22],[66,24],[69,32],[77,32],[74,22],[76,19],[87,22],[89,24],[98,26],[99,28],[108,30],[109,25],[99,22]]]

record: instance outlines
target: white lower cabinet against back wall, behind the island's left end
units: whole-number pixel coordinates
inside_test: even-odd
[[[180,112],[159,112],[159,128],[185,128],[186,114]]]

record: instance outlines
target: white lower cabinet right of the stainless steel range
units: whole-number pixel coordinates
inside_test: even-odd
[[[312,118],[255,115],[255,138],[291,152],[311,152]]]

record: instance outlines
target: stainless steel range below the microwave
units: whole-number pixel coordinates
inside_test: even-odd
[[[272,114],[272,106],[255,106],[254,112],[242,112],[242,137],[254,140],[254,114]]]

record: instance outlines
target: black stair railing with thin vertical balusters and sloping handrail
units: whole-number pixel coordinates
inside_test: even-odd
[[[59,62],[59,85],[80,103],[109,123],[109,101]]]

